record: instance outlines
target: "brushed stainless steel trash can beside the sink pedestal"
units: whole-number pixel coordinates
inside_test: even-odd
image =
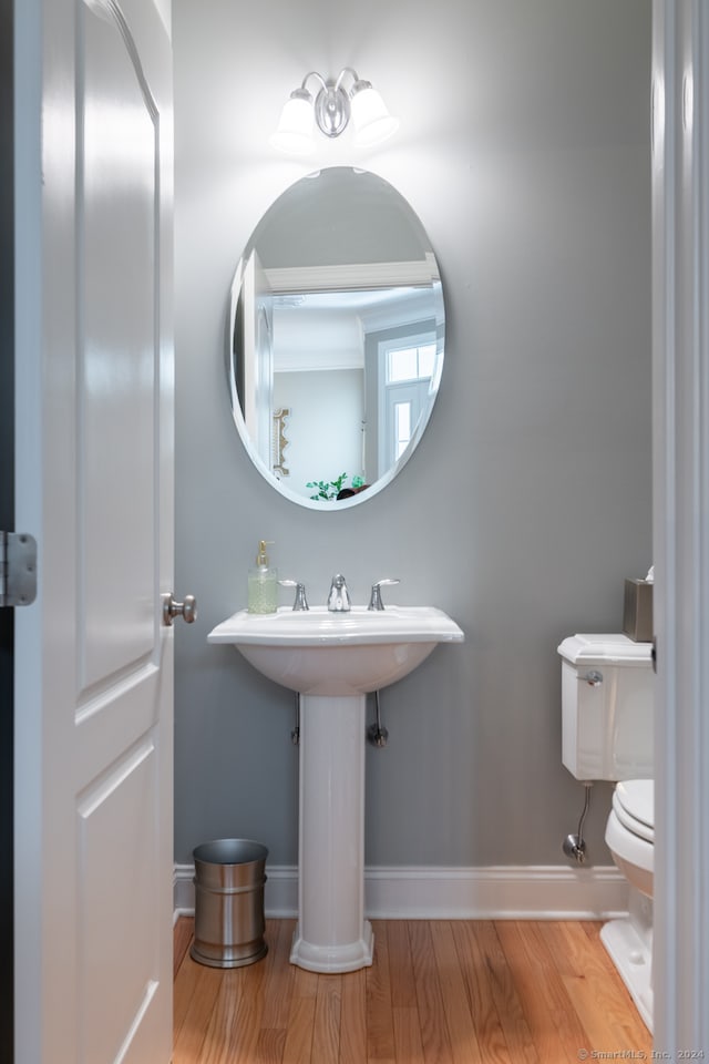
[[[266,956],[266,847],[250,839],[216,839],[196,847],[193,856],[195,938],[191,955],[210,968],[240,968]]]

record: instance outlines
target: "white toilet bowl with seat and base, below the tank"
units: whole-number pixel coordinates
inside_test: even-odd
[[[628,915],[604,924],[600,939],[653,1030],[653,873],[655,785],[629,779],[616,785],[606,823],[606,845],[628,881]]]

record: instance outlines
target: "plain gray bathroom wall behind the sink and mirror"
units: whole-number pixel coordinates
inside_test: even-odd
[[[297,860],[292,695],[210,627],[260,538],[322,602],[342,571],[464,628],[382,695],[367,861],[564,863],[582,788],[561,764],[559,641],[619,631],[650,544],[647,0],[174,0],[177,576],[175,859],[246,836]],[[304,74],[353,65],[401,130],[378,153],[267,143]],[[357,163],[427,227],[446,361],[421,446],[362,505],[318,513],[251,467],[227,399],[227,290],[257,221],[310,168]],[[393,596],[392,596],[393,597]],[[590,858],[609,863],[596,788]]]

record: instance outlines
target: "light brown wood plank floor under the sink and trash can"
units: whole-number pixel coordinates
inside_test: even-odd
[[[291,920],[267,956],[223,971],[175,929],[174,1064],[577,1064],[651,1056],[599,923],[373,921],[374,963],[316,975],[289,963]]]

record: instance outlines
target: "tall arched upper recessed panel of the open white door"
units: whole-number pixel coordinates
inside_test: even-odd
[[[155,648],[157,111],[120,27],[81,6],[82,688]],[[82,83],[83,82],[83,83]],[[106,491],[106,488],[109,490]],[[106,608],[110,604],[110,608]]]

